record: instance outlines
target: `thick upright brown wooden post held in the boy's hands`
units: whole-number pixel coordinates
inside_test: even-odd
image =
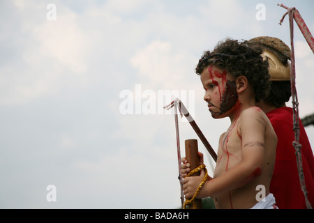
[[[187,139],[185,141],[186,147],[186,160],[190,164],[191,171],[200,166],[200,157],[198,157],[197,139]],[[193,174],[193,176],[200,176],[200,172]],[[197,209],[202,209],[202,199],[195,199]],[[192,209],[189,206],[189,209]]]

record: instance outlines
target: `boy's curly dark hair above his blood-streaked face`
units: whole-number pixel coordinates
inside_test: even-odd
[[[269,81],[268,61],[263,61],[259,45],[227,39],[216,45],[213,52],[206,51],[199,60],[195,71],[200,75],[209,65],[227,70],[233,77],[244,75],[255,93],[255,101],[267,97]]]

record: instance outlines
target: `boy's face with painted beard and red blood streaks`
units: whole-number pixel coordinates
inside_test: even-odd
[[[228,74],[216,66],[204,68],[200,75],[205,90],[204,100],[213,118],[223,118],[237,103],[237,84]]]

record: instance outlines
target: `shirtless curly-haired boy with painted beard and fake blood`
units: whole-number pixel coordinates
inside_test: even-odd
[[[257,45],[228,39],[214,52],[204,52],[196,68],[211,116],[231,121],[219,139],[214,178],[197,196],[213,197],[216,208],[276,208],[269,183],[277,137],[267,116],[255,107],[270,86],[268,63],[261,54]],[[186,199],[193,197],[203,177],[201,171],[184,178]]]

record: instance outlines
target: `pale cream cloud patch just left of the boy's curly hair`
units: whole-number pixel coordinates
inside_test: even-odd
[[[176,49],[173,43],[160,40],[153,41],[130,59],[131,65],[138,70],[140,84],[154,90],[171,91],[200,88],[195,61],[195,56],[184,49]]]

